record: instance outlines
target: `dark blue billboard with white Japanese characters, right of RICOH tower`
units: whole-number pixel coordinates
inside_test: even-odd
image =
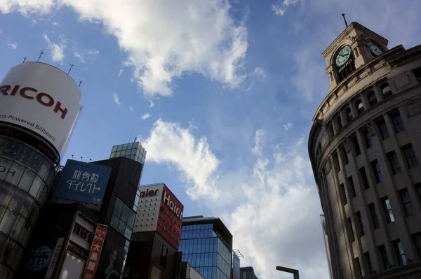
[[[100,205],[107,189],[111,167],[67,160],[54,197]]]

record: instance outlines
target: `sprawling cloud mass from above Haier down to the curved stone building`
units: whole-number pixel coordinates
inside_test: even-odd
[[[234,248],[245,255],[241,265],[254,266],[260,278],[279,278],[275,266],[280,263],[300,269],[303,278],[328,278],[320,202],[302,138],[265,157],[267,131],[258,129],[250,148],[255,164],[233,163],[234,170],[222,171],[206,138],[196,140],[192,131],[157,120],[142,141],[147,160],[180,171],[189,196],[229,227]]]

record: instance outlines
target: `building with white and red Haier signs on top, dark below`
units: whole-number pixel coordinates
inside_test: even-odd
[[[164,183],[140,187],[131,247],[123,278],[180,276],[178,252],[184,206]]]

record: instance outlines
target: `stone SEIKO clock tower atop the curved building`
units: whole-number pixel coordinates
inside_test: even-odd
[[[330,91],[350,78],[352,72],[387,51],[387,39],[352,22],[322,53]]]

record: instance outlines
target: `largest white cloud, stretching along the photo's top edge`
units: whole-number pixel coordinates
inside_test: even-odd
[[[170,2],[10,0],[0,2],[0,10],[45,14],[69,6],[83,20],[105,24],[128,53],[126,65],[147,95],[171,95],[174,79],[192,72],[238,86],[244,79],[248,34],[229,15],[229,1]]]

